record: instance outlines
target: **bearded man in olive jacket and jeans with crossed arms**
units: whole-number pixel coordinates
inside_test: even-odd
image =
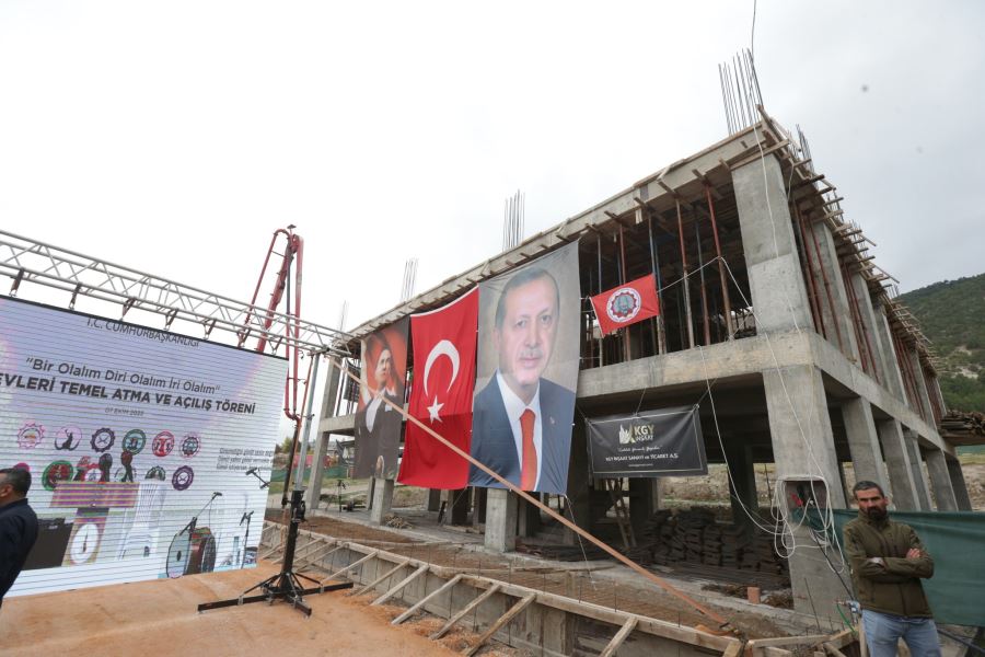
[[[861,481],[853,493],[858,518],[845,526],[845,550],[869,654],[892,657],[903,638],[914,656],[939,657],[937,626],[920,585],[934,576],[934,560],[913,528],[889,519],[889,498],[879,484]]]

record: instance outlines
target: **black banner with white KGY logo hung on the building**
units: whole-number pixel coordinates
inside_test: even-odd
[[[697,411],[697,406],[680,406],[589,419],[593,476],[708,474]]]

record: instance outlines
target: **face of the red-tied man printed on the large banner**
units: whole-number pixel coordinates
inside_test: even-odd
[[[507,291],[502,324],[494,331],[499,370],[510,389],[530,403],[557,335],[557,288],[547,276]]]

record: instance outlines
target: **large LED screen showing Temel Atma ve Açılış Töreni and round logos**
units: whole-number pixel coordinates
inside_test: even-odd
[[[0,466],[39,532],[9,595],[255,564],[287,361],[0,297]]]

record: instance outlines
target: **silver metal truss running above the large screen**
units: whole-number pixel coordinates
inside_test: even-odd
[[[234,334],[240,347],[251,337],[265,337],[275,354],[287,343],[312,353],[351,357],[347,343],[352,336],[336,328],[3,230],[0,230],[0,275],[12,279],[11,297],[16,297],[21,284],[28,281],[70,292],[69,310],[74,309],[80,296],[91,297],[120,306],[123,316],[131,309],[160,314],[164,318],[164,331],[175,320],[183,320],[200,324],[205,339],[219,330]],[[269,328],[262,328],[271,316]],[[294,328],[297,337],[292,335]]]

